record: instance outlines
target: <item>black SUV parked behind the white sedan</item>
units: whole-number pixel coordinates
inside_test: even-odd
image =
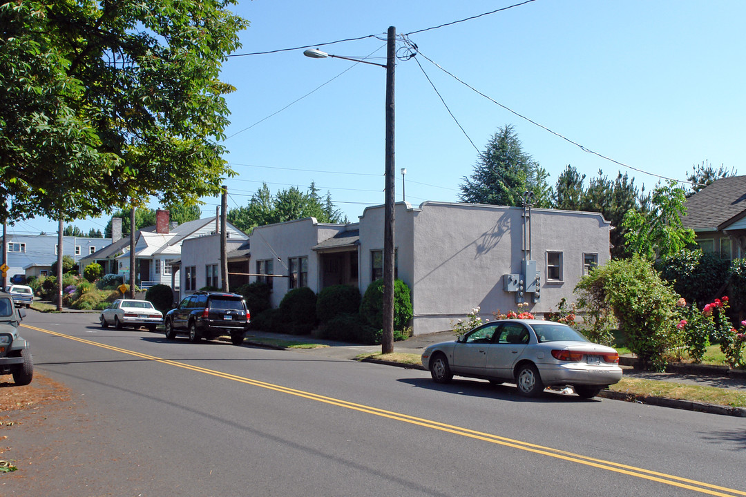
[[[174,340],[177,333],[186,333],[192,343],[202,338],[212,340],[219,335],[231,335],[233,345],[239,345],[243,343],[250,317],[242,296],[198,291],[184,297],[163,321],[169,340]]]

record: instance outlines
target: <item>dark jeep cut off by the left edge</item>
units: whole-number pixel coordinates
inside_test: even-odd
[[[34,360],[29,344],[18,333],[25,309],[16,308],[10,294],[0,292],[0,375],[13,375],[18,385],[31,383]]]

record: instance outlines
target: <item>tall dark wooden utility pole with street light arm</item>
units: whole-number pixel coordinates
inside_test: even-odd
[[[383,336],[381,353],[394,352],[394,66],[396,61],[396,28],[389,26],[386,42],[386,66],[352,59],[339,55],[327,54],[317,48],[303,52],[312,59],[332,57],[352,60],[386,68],[386,186],[383,203]]]

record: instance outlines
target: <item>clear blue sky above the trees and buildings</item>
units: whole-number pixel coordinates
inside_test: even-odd
[[[457,201],[463,177],[498,127],[512,124],[524,151],[554,185],[565,165],[587,177],[618,171],[651,189],[658,177],[685,180],[709,161],[746,174],[743,20],[746,2],[535,0],[443,28],[511,1],[240,0],[251,26],[236,54],[319,45],[348,57],[386,55],[386,30],[416,43],[395,78],[396,198],[406,168],[406,200]],[[321,45],[339,39],[362,40]],[[398,42],[399,54],[404,43]],[[515,113],[629,165],[625,168],[549,133],[433,66],[442,66]],[[376,60],[378,61],[378,60]],[[380,60],[385,63],[385,60]],[[226,181],[234,208],[266,182],[272,193],[316,183],[350,221],[383,203],[384,69],[314,60],[303,50],[231,57],[222,79],[231,126],[224,145],[238,176]],[[469,141],[471,139],[471,142]],[[204,199],[213,215],[219,199]],[[155,204],[153,204],[155,206]],[[101,229],[108,217],[74,224]],[[11,231],[56,232],[37,218]]]

